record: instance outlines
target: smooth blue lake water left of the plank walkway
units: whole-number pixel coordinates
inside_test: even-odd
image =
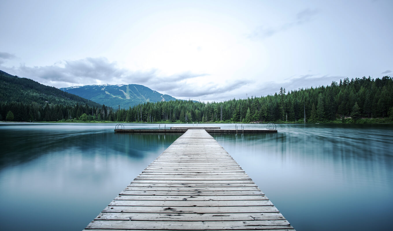
[[[2,230],[82,230],[180,136],[113,129],[0,125]]]

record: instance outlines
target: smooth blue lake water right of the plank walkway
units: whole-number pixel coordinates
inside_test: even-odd
[[[279,125],[277,134],[213,137],[297,230],[387,230],[392,128]]]

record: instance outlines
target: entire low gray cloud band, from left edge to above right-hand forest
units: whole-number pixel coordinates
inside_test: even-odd
[[[7,55],[4,55],[7,56]],[[8,56],[9,57],[9,56]],[[12,57],[12,56],[11,56]],[[116,62],[109,62],[105,58],[86,58],[77,61],[63,61],[52,66],[28,67],[21,65],[17,68],[0,68],[11,75],[34,79],[42,84],[67,87],[92,84],[143,84],[152,90],[169,94],[179,99],[193,99],[201,101],[227,101],[233,98],[248,96],[264,96],[278,92],[281,87],[286,90],[298,88],[330,85],[332,81],[339,81],[343,76],[322,76],[314,74],[290,77],[283,83],[264,82],[255,83],[253,80],[240,79],[216,84],[207,82],[203,87],[185,84],[186,79],[193,79],[208,75],[207,73],[183,72],[169,76],[162,76],[156,69],[147,71],[130,71],[119,68]]]

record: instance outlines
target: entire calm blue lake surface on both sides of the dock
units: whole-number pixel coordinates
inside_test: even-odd
[[[115,125],[0,123],[1,229],[84,229],[181,135],[115,134]],[[391,229],[393,125],[277,130],[213,137],[298,231]]]

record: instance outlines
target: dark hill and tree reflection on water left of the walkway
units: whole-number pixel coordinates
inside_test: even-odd
[[[80,151],[83,155],[113,153],[142,158],[144,153],[166,148],[181,134],[115,134],[114,132],[0,130],[0,168],[18,165],[45,154]]]

